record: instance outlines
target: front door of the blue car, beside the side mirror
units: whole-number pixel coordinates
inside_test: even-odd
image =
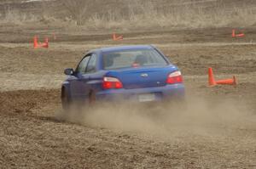
[[[70,79],[70,89],[73,99],[83,99],[87,93],[86,82],[88,78],[86,76],[86,68],[90,60],[90,54],[84,56],[84,58],[79,62],[77,69],[74,72],[74,75]]]

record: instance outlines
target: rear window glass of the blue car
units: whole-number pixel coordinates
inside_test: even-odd
[[[104,70],[167,64],[166,59],[154,49],[125,50],[103,54]]]

